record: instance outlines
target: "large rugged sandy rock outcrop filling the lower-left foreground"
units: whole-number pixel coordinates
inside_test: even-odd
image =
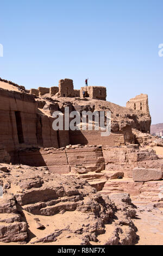
[[[68,241],[70,237],[77,239],[79,245],[91,242],[131,245],[135,242],[136,227],[131,219],[136,210],[128,194],[110,199],[97,193],[87,181],[71,175],[51,174],[41,167],[7,167],[10,173],[0,174],[3,183],[7,180],[11,184],[0,200],[0,242],[47,243]],[[29,215],[35,230],[41,232],[32,240]],[[43,222],[43,216],[49,217],[49,235],[49,224]],[[51,218],[58,220],[58,216],[60,224],[58,221],[51,223]],[[108,228],[112,232],[107,235]],[[44,230],[46,235],[43,235]],[[104,240],[103,234],[106,234]]]

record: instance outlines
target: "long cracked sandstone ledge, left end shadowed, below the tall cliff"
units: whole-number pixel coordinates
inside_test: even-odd
[[[105,169],[105,163],[101,148],[82,147],[62,149],[37,149],[24,150],[18,153],[21,163],[30,166],[47,166],[52,173],[64,174],[78,172],[78,169],[85,168],[87,172],[101,172]],[[79,171],[80,172],[80,171]]]

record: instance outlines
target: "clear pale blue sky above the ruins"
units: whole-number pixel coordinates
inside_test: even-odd
[[[163,123],[162,0],[1,1],[0,77],[29,88],[74,88],[90,78],[108,101],[149,96],[152,123]]]

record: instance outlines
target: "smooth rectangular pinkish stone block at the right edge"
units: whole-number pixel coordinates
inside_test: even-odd
[[[162,173],[162,170],[160,169],[146,169],[146,168],[133,169],[134,181],[161,180],[162,177],[163,177],[163,173]]]

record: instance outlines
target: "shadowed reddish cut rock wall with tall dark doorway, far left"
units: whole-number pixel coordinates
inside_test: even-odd
[[[33,95],[0,89],[1,144],[8,152],[21,144],[37,143],[35,121],[36,103]]]

